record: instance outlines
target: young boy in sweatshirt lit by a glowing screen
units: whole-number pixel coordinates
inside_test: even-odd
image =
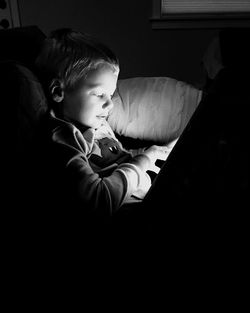
[[[155,162],[170,149],[155,145],[136,155],[115,137],[107,118],[119,74],[116,56],[88,35],[59,29],[45,41],[37,67],[49,97],[42,162],[51,195],[95,217],[142,201],[151,186],[147,171],[159,171]]]

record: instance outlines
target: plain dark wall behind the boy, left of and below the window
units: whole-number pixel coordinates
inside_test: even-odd
[[[71,27],[109,45],[121,64],[120,78],[169,76],[203,84],[202,56],[216,29],[153,30],[151,0],[20,0],[22,26],[46,35]]]

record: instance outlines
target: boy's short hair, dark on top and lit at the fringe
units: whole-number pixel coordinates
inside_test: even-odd
[[[60,80],[65,90],[73,90],[91,70],[103,65],[119,72],[119,61],[107,46],[70,28],[53,31],[36,60],[38,72],[48,90],[55,80]]]

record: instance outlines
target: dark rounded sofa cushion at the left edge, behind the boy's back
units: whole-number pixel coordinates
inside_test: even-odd
[[[4,107],[17,116],[18,152],[32,141],[41,116],[47,110],[47,100],[41,83],[26,66],[16,62],[0,63],[1,95]]]

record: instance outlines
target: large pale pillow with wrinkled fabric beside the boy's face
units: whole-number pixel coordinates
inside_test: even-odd
[[[167,143],[180,136],[201,96],[170,77],[121,79],[108,121],[118,135]]]

